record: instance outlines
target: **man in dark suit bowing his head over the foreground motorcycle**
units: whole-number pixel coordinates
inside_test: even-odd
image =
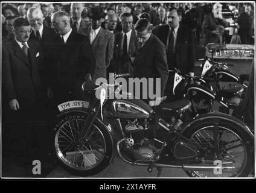
[[[165,84],[168,80],[168,66],[164,43],[151,33],[152,25],[147,19],[139,19],[136,22],[135,32],[139,41],[139,50],[133,62],[134,77],[145,77],[147,79],[161,78],[161,96],[163,96]],[[153,86],[154,90],[156,90],[156,84]]]

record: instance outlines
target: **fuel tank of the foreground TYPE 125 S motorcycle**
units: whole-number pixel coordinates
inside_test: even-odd
[[[112,113],[119,118],[146,119],[153,109],[139,99],[115,100],[112,103]]]

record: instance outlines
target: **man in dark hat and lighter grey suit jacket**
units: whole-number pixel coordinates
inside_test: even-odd
[[[91,13],[88,14],[88,17],[92,19],[92,24],[85,28],[83,33],[89,37],[95,56],[95,71],[92,76],[94,82],[97,78],[107,77],[107,67],[110,65],[114,52],[114,34],[101,28],[105,16],[106,13],[103,12],[102,7],[92,7]]]

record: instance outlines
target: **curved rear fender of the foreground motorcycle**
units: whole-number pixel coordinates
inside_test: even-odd
[[[205,119],[223,119],[225,121],[231,121],[233,124],[238,125],[241,127],[249,136],[252,140],[254,140],[254,134],[252,131],[249,129],[249,127],[245,124],[245,122],[241,121],[240,119],[235,118],[234,116],[225,114],[225,113],[220,113],[220,112],[210,112],[206,113],[204,115],[198,116],[195,118],[193,121],[185,125],[181,133],[184,133],[187,129],[189,129],[192,125],[197,124],[199,121],[203,121]]]

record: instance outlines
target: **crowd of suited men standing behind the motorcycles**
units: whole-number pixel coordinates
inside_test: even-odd
[[[202,34],[204,44],[217,43],[219,26],[228,25],[211,4],[15,6],[2,7],[2,106],[11,122],[44,119],[52,106],[80,99],[85,79],[109,72],[159,77],[161,96],[171,95],[168,70],[193,76]],[[238,17],[242,43],[252,36],[251,15],[246,4]]]

